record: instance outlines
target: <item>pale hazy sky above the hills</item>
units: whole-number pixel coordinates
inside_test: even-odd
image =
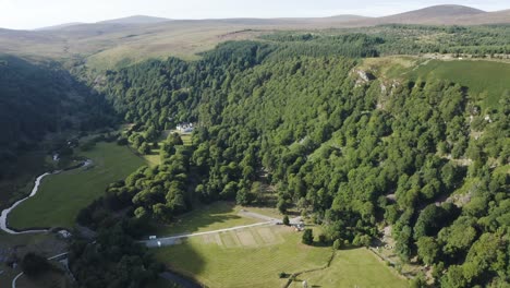
[[[448,1],[448,2],[445,2]],[[28,29],[70,22],[143,14],[170,19],[295,17],[360,14],[381,16],[434,4],[486,11],[509,9],[508,0],[0,0],[0,27]],[[507,3],[506,3],[507,2]]]

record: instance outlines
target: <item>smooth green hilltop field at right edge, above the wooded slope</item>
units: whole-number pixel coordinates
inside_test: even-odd
[[[510,64],[495,61],[432,60],[411,72],[414,77],[442,79],[469,87],[484,109],[497,108],[505,93],[510,93]]]

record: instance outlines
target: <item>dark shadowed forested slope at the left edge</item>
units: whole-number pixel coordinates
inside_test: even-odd
[[[111,115],[100,95],[57,63],[0,56],[1,167],[37,147],[48,133],[102,128],[114,120]],[[0,168],[0,179],[8,173]]]

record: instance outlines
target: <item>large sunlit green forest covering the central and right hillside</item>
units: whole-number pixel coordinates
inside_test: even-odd
[[[331,242],[371,245],[391,226],[401,259],[434,267],[442,287],[508,283],[510,93],[488,109],[456,83],[357,71],[384,37],[335,36],[320,44],[331,55],[309,48],[315,36],[269,38],[286,44],[227,43],[195,62],[108,72],[99,88],[135,123],[120,143],[148,152],[163,130],[197,128],[191,146],[170,134],[161,165],[112,183],[78,221],[111,223],[125,207],[168,223],[196,201],[260,204],[264,183],[269,204],[298,208]]]

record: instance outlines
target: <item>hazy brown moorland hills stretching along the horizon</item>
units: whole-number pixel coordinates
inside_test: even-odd
[[[301,19],[169,20],[135,15],[93,24],[39,31],[0,29],[0,50],[27,59],[87,61],[104,70],[147,58],[196,53],[226,40],[253,39],[274,31],[365,27],[381,24],[478,25],[510,23],[510,10],[485,12],[463,5],[436,5],[384,17],[337,15]]]

